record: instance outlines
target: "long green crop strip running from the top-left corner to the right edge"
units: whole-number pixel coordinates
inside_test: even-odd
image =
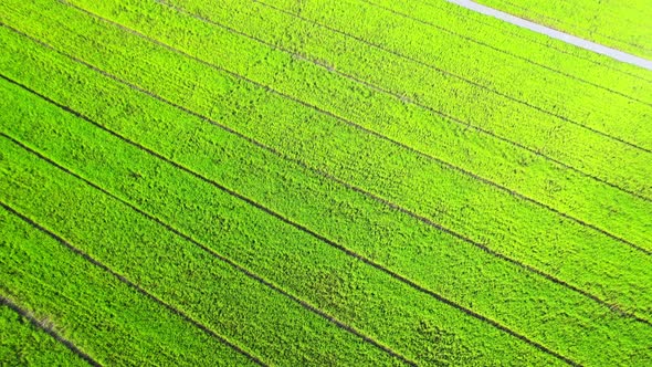
[[[85,45],[76,50],[77,56],[150,93],[212,117],[285,157],[395,202],[490,249],[556,274],[631,311],[648,313],[649,303],[635,295],[635,290],[640,276],[650,271],[649,258],[625,243],[122,29],[83,14],[75,18],[74,10],[64,18],[65,23],[50,28],[63,31],[74,24],[73,19],[86,24],[83,24],[83,38],[73,39],[74,33],[66,33],[52,40],[70,43],[61,49],[71,51],[76,44]],[[84,43],[90,32],[98,32],[94,35],[101,40],[95,41],[97,44]],[[127,42],[130,46],[125,49]],[[124,50],[147,50],[148,59],[122,55]],[[124,67],[125,64],[134,67]],[[211,77],[198,80],[198,75]],[[302,217],[297,216],[297,221]],[[564,262],[557,260],[559,253],[566,254]],[[582,261],[587,255],[595,261]],[[618,263],[623,256],[632,261],[627,268],[612,270],[609,264]],[[614,271],[623,281],[609,276]]]

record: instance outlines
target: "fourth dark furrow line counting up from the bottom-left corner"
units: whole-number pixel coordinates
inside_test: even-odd
[[[7,78],[3,75],[2,75],[2,78],[6,78],[8,81],[11,81],[11,80]],[[28,87],[22,86],[22,84],[19,84],[17,82],[13,82],[13,83],[17,84],[17,85],[19,85],[19,86],[21,86],[21,87],[23,87],[23,88],[25,88],[27,91],[29,91],[31,93],[34,93],[35,95],[38,95],[40,97],[43,97],[41,94],[35,93],[35,92],[32,92],[31,88],[28,88]],[[48,102],[52,101],[52,99],[46,98],[46,97],[44,99],[48,101]],[[77,113],[74,109],[72,109],[72,108],[70,108],[67,106],[61,105],[61,104],[59,104],[56,102],[53,102],[52,101],[51,103],[53,103],[54,105],[59,106],[60,108],[62,108],[64,111],[67,111],[67,112],[74,113],[74,114]],[[194,113],[191,113],[191,112],[189,114],[196,115]],[[81,115],[81,116],[84,116],[84,115]],[[207,120],[206,118],[202,118],[202,117],[200,117],[200,118]],[[116,137],[120,137],[122,138],[120,135],[117,135],[116,133],[113,133],[112,130],[107,129],[106,127],[104,127],[102,125],[95,125],[95,126],[97,126],[97,127],[106,130],[107,133],[111,133],[112,135],[114,135]],[[499,324],[496,321],[493,321],[493,319],[491,319],[491,318],[488,318],[486,316],[483,316],[483,315],[481,315],[481,314],[479,314],[479,313],[476,313],[476,312],[474,312],[474,311],[472,311],[470,308],[466,308],[466,307],[464,307],[464,306],[462,306],[462,305],[460,305],[460,304],[458,304],[458,303],[455,303],[455,302],[453,302],[453,301],[451,301],[449,298],[445,298],[442,295],[440,295],[440,294],[438,294],[438,293],[435,293],[433,291],[430,291],[430,290],[428,290],[428,289],[419,285],[418,283],[416,283],[416,282],[413,282],[413,281],[411,281],[411,280],[409,280],[409,279],[407,279],[407,277],[404,277],[404,276],[402,276],[402,275],[400,275],[400,274],[398,274],[398,273],[396,273],[396,272],[393,272],[393,271],[391,271],[391,270],[382,266],[381,264],[378,264],[378,263],[374,262],[372,260],[369,260],[369,259],[367,259],[367,258],[358,254],[357,252],[355,252],[353,250],[349,250],[348,248],[346,248],[346,247],[344,247],[341,244],[338,244],[338,243],[336,243],[336,242],[334,242],[334,241],[325,238],[324,235],[318,234],[318,233],[312,231],[307,227],[305,227],[303,224],[299,224],[299,223],[296,223],[296,222],[294,222],[294,221],[285,218],[281,213],[277,213],[277,212],[275,212],[275,211],[273,211],[273,210],[271,210],[271,209],[269,209],[269,208],[266,208],[266,207],[257,203],[256,201],[254,201],[254,200],[252,200],[252,199],[250,199],[248,197],[244,197],[244,196],[242,196],[242,195],[240,195],[240,193],[238,193],[238,192],[235,192],[235,191],[233,191],[233,190],[231,190],[229,188],[225,188],[225,187],[221,186],[220,184],[218,184],[218,182],[215,182],[215,181],[213,181],[213,180],[211,180],[209,178],[206,178],[202,175],[197,174],[197,172],[194,172],[194,171],[192,171],[192,170],[190,170],[188,168],[186,168],[185,166],[181,166],[181,165],[179,165],[179,164],[177,164],[177,162],[175,162],[175,161],[172,161],[172,160],[170,160],[170,159],[168,159],[168,158],[166,158],[166,157],[164,157],[164,156],[161,156],[161,155],[159,155],[159,154],[157,154],[157,153],[155,153],[153,150],[149,150],[148,148],[146,148],[144,146],[140,146],[137,143],[134,143],[134,141],[128,140],[126,138],[123,138],[123,139],[126,143],[132,144],[132,145],[134,145],[136,147],[140,147],[144,151],[150,153],[154,156],[159,157],[161,160],[165,160],[165,161],[169,162],[170,165],[172,165],[172,166],[175,166],[175,167],[177,167],[177,168],[179,168],[181,170],[187,171],[188,174],[190,174],[190,175],[192,175],[192,176],[194,176],[194,177],[197,177],[197,178],[206,181],[207,184],[210,184],[210,185],[212,185],[212,186],[214,186],[214,187],[223,190],[224,192],[227,192],[227,193],[229,193],[229,195],[231,195],[231,196],[233,196],[233,197],[235,197],[238,199],[241,199],[242,201],[245,201],[246,203],[251,205],[252,207],[255,207],[256,209],[259,209],[259,210],[261,210],[261,211],[263,211],[263,212],[265,212],[265,213],[267,213],[267,214],[270,214],[270,216],[272,216],[272,217],[274,217],[274,218],[276,218],[276,219],[278,219],[278,220],[281,220],[281,221],[283,221],[283,222],[285,222],[285,223],[287,223],[287,224],[290,224],[290,226],[292,226],[292,227],[294,227],[294,228],[296,228],[296,229],[298,229],[298,230],[301,230],[301,231],[303,231],[303,232],[312,235],[312,237],[314,237],[315,239],[320,240],[320,241],[325,242],[326,244],[329,244],[329,245],[332,245],[332,247],[340,250],[341,252],[350,255],[351,258],[358,259],[359,261],[364,262],[365,264],[368,264],[368,265],[370,265],[372,268],[376,268],[377,270],[379,270],[379,271],[381,271],[381,272],[390,275],[395,280],[398,280],[398,281],[400,281],[400,282],[409,285],[410,287],[412,287],[412,289],[414,289],[414,290],[417,290],[417,291],[419,291],[421,293],[424,293],[424,294],[427,294],[427,295],[435,298],[437,301],[439,301],[441,303],[444,303],[444,304],[446,304],[446,305],[449,305],[449,306],[451,306],[453,308],[456,308],[458,311],[460,311],[460,312],[462,312],[462,313],[464,313],[464,314],[466,314],[466,315],[469,315],[471,317],[474,317],[474,318],[476,318],[476,319],[479,319],[481,322],[487,323],[488,325],[491,325],[491,326],[493,326],[493,327],[495,327],[495,328],[504,332],[505,334],[508,334],[508,335],[511,335],[513,337],[516,337],[516,338],[520,339],[522,342],[524,342],[526,344],[529,344],[533,347],[539,349],[540,352],[544,352],[544,353],[547,353],[547,354],[549,354],[551,356],[555,356],[556,358],[558,358],[560,360],[564,360],[564,361],[566,361],[569,365],[579,366],[579,364],[577,364],[577,363],[572,361],[571,359],[569,359],[569,358],[567,358],[567,357],[565,357],[565,356],[562,356],[562,355],[560,355],[560,354],[558,354],[558,353],[549,349],[548,347],[546,347],[546,346],[544,346],[544,345],[541,345],[541,344],[539,344],[537,342],[534,342],[534,340],[529,339],[527,336],[520,335],[520,334],[518,334],[518,333],[509,329],[508,327]],[[0,202],[0,205],[1,205],[1,202]]]

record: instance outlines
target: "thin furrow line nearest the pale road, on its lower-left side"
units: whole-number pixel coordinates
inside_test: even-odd
[[[607,91],[607,92],[609,92],[609,93],[614,93],[614,94],[618,94],[618,95],[620,95],[620,96],[622,96],[622,97],[625,97],[625,98],[628,98],[628,99],[630,99],[630,101],[633,101],[633,102],[637,102],[637,103],[640,103],[640,104],[643,104],[643,105],[646,105],[646,106],[652,106],[652,104],[651,104],[651,103],[648,103],[648,102],[644,102],[644,101],[638,99],[638,98],[635,98],[635,97],[632,97],[632,96],[630,96],[630,95],[628,95],[628,94],[625,94],[625,93],[622,93],[622,92],[614,91],[614,90],[612,90],[612,88],[610,88],[610,87],[608,87],[608,86],[602,86],[602,85],[596,84],[596,83],[593,83],[593,82],[589,82],[589,81],[587,81],[587,80],[583,80],[583,78],[581,78],[581,77],[579,77],[579,76],[575,76],[575,75],[571,75],[571,74],[565,73],[565,72],[562,72],[562,71],[559,71],[559,70],[556,70],[556,69],[554,69],[554,67],[550,67],[550,66],[544,65],[544,64],[541,64],[541,63],[538,63],[538,62],[536,62],[536,61],[533,61],[533,60],[530,60],[530,59],[527,59],[527,57],[523,57],[523,56],[516,55],[516,54],[514,54],[514,53],[512,53],[512,52],[508,52],[508,51],[505,51],[505,50],[501,50],[501,49],[498,49],[498,48],[495,48],[495,46],[493,46],[493,45],[491,45],[491,44],[486,44],[486,43],[484,43],[484,42],[481,42],[481,41],[474,40],[474,39],[472,39],[472,38],[470,38],[470,36],[465,36],[465,35],[462,35],[462,34],[460,34],[460,33],[456,33],[456,32],[454,32],[454,31],[452,31],[452,30],[450,30],[450,29],[446,29],[446,28],[444,28],[444,27],[437,25],[437,24],[434,24],[434,23],[432,23],[432,22],[424,21],[424,20],[422,20],[422,19],[418,19],[418,18],[416,18],[416,17],[412,17],[412,15],[409,15],[409,14],[404,14],[404,13],[402,13],[402,12],[400,12],[400,11],[397,11],[397,10],[395,10],[395,9],[387,8],[387,7],[385,7],[385,6],[381,6],[381,4],[377,4],[377,3],[375,3],[375,2],[372,2],[372,1],[370,1],[370,0],[360,0],[360,1],[362,1],[362,2],[365,2],[365,3],[368,3],[368,4],[372,6],[372,7],[376,7],[376,8],[378,8],[378,9],[382,9],[382,10],[389,11],[389,12],[391,12],[392,14],[395,14],[395,15],[397,15],[397,17],[402,17],[402,18],[409,19],[409,20],[411,20],[411,21],[419,22],[419,23],[421,23],[421,24],[425,24],[425,25],[429,25],[429,27],[435,28],[435,29],[438,29],[438,30],[440,30],[440,31],[446,32],[446,33],[449,33],[449,34],[453,34],[453,35],[455,35],[455,36],[459,36],[459,38],[461,38],[461,39],[463,39],[463,40],[466,40],[466,41],[469,41],[469,42],[473,42],[473,43],[475,43],[475,44],[479,44],[479,45],[482,45],[482,46],[488,48],[488,49],[491,49],[491,50],[494,50],[494,51],[496,51],[496,52],[499,52],[499,53],[503,53],[503,54],[509,55],[509,56],[512,56],[512,57],[515,57],[515,59],[518,59],[518,60],[523,60],[523,61],[527,62],[528,64],[533,64],[533,65],[536,65],[536,66],[543,67],[543,69],[545,69],[545,70],[547,70],[547,71],[550,71],[550,72],[553,72],[553,73],[556,73],[556,74],[559,74],[559,75],[562,75],[562,76],[569,77],[569,78],[571,78],[571,80],[574,80],[574,81],[578,81],[578,82],[580,82],[580,83],[588,84],[588,85],[590,85],[590,86],[593,86],[593,87],[597,87],[597,88],[600,88],[600,90]],[[481,86],[481,87],[482,87],[482,86]],[[502,95],[502,94],[501,94],[501,95]],[[513,101],[517,101],[517,99],[513,99]],[[524,103],[525,103],[525,102],[524,102]],[[530,107],[534,107],[534,106],[530,106]],[[534,108],[536,108],[536,107],[534,107]],[[537,109],[538,109],[538,108],[537,108]],[[543,109],[538,109],[538,111],[541,111],[541,112],[544,112]],[[567,119],[567,118],[565,118],[565,117],[562,117],[562,116],[557,116],[557,115],[551,115],[551,116],[559,117],[559,118],[561,118],[561,119],[564,119],[564,120],[567,120],[567,122],[569,122],[569,123],[575,123],[575,122],[572,122],[572,120],[570,120],[570,119]]]

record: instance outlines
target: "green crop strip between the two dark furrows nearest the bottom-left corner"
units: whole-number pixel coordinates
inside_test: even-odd
[[[2,139],[3,148],[4,143]],[[4,150],[2,153],[4,155]],[[1,161],[3,169],[8,168],[8,159],[11,158],[4,156]],[[6,241],[0,247],[2,266],[11,274],[0,280],[2,293],[20,301],[24,311],[36,319],[54,324],[62,337],[98,363],[135,365],[147,360],[179,365],[203,361],[218,366],[223,365],[220,360],[233,360],[248,365],[246,358],[144,298],[133,287],[67,248],[61,239],[55,240],[6,208],[0,208],[0,233]],[[3,338],[3,343],[12,339]],[[34,340],[21,345],[30,346],[35,346]],[[74,359],[45,365],[67,363]]]

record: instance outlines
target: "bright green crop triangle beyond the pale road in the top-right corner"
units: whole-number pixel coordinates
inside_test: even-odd
[[[652,59],[652,8],[646,0],[479,0],[495,9],[580,38]]]

